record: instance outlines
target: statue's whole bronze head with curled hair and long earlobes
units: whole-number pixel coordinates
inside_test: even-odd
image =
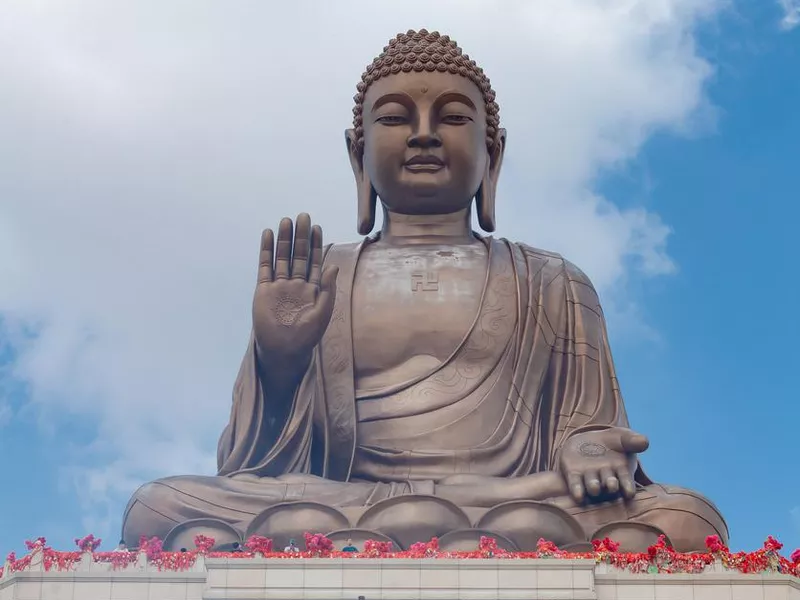
[[[424,29],[399,34],[354,99],[346,141],[360,234],[374,227],[378,197],[411,215],[455,213],[474,199],[481,228],[494,231],[506,132],[489,79],[453,40]]]

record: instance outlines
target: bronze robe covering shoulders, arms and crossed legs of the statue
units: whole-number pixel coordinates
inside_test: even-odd
[[[632,500],[576,504],[567,496],[557,471],[570,436],[628,427],[597,293],[557,254],[482,239],[485,283],[461,342],[429,372],[378,390],[356,389],[353,364],[358,307],[351,299],[370,240],[328,247],[324,265],[339,267],[333,316],[291,402],[260,381],[251,336],[219,441],[218,474],[142,486],[125,511],[124,539],[163,537],[208,518],[244,533],[256,515],[284,502],[363,510],[421,494],[465,509],[545,500],[587,536],[636,521],[666,532],[684,551],[702,549],[706,535],[727,540],[712,503],[652,483],[640,466]],[[465,476],[482,483],[451,485]]]

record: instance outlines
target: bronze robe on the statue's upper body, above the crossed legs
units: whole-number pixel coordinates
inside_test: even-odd
[[[251,338],[219,442],[219,475],[309,474],[424,491],[448,475],[557,470],[570,435],[627,427],[587,276],[554,253],[484,242],[480,308],[461,344],[415,380],[368,393],[355,389],[351,298],[369,240],[329,247],[324,264],[339,267],[333,317],[293,402],[277,406],[262,385]],[[641,470],[637,481],[649,483]],[[368,500],[358,496],[352,502]]]

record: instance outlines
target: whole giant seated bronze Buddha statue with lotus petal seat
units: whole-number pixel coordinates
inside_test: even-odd
[[[649,442],[629,428],[588,277],[489,235],[507,138],[483,70],[409,31],[357,92],[345,145],[363,241],[326,246],[307,214],[264,231],[218,473],[141,487],[125,541],[727,541],[711,502],[642,470]]]

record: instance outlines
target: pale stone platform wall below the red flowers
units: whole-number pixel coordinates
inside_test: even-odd
[[[800,600],[800,579],[741,574],[635,574],[593,560],[206,558],[186,571],[146,560],[69,571],[33,561],[0,579],[0,600]]]

